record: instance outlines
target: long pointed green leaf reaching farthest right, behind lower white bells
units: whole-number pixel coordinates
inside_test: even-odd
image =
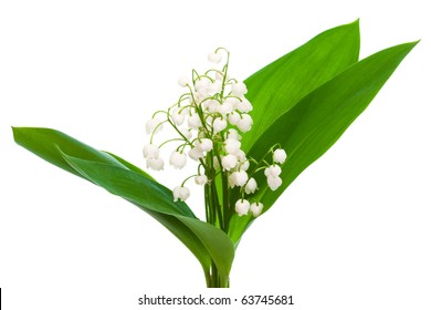
[[[283,184],[277,190],[269,189],[262,174],[256,177],[260,190],[253,199],[264,204],[264,211],[362,113],[416,44],[396,45],[351,65],[301,100],[264,132],[250,151],[250,156],[262,157],[275,143],[280,143],[288,154],[281,174]],[[230,236],[238,242],[252,219],[233,220],[240,225]]]

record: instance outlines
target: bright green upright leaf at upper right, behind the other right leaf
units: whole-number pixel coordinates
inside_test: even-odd
[[[357,62],[359,42],[359,21],[336,27],[248,78],[254,123],[242,138],[243,151],[302,97]]]

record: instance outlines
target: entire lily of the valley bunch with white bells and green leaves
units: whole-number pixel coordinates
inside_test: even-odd
[[[244,81],[230,75],[229,51],[214,50],[210,68],[180,78],[182,95],[146,124],[147,169],[166,168],[164,156],[174,168],[196,165],[172,190],[61,132],[14,127],[13,134],[43,159],[153,216],[196,256],[208,287],[225,288],[245,230],[339,138],[416,44],[359,61],[356,21],[320,33]],[[171,136],[162,141],[158,132],[165,130]],[[190,182],[203,187],[204,219],[185,203]]]

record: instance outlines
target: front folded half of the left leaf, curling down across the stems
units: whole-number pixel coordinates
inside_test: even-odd
[[[155,182],[132,170],[67,155],[64,157],[85,178],[109,193],[120,196],[145,210],[175,216],[199,238],[224,279],[229,278],[234,256],[232,241],[217,227],[191,217],[190,214],[183,214],[183,209],[178,208],[178,204],[174,203],[170,190],[161,189]],[[201,248],[198,250],[201,251]]]

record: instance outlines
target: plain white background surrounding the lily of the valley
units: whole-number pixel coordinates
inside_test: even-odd
[[[424,3],[1,1],[4,309],[141,309],[143,293],[209,294],[197,260],[164,227],[17,146],[11,125],[59,128],[144,166],[145,121],[177,99],[177,78],[204,68],[208,52],[229,48],[232,74],[245,79],[357,18],[361,58],[422,41],[338,143],[246,232],[229,294],[293,294],[292,309],[431,309]],[[155,177],[175,186],[183,176],[168,169]]]

